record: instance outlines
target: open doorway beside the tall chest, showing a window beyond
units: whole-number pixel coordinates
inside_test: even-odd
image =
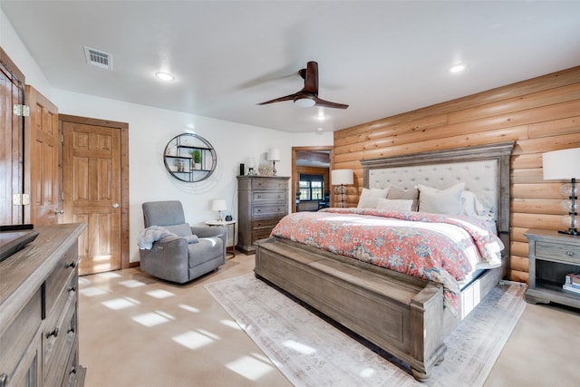
[[[292,212],[317,211],[321,205],[329,207],[330,169],[333,160],[333,146],[292,148],[292,197],[295,200]],[[323,180],[322,198],[301,200],[300,175],[320,176]],[[310,179],[312,180],[312,179]],[[314,179],[316,180],[316,179]],[[304,196],[304,195],[303,195]]]

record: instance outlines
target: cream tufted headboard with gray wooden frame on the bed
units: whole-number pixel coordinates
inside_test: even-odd
[[[515,141],[391,158],[361,160],[365,188],[424,184],[446,189],[459,181],[494,213],[499,233],[509,233],[509,158]],[[507,237],[508,238],[508,237]]]

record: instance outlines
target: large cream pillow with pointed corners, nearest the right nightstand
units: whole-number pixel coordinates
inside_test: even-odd
[[[461,193],[465,183],[457,183],[448,189],[434,189],[418,184],[419,210],[435,214],[460,215]]]

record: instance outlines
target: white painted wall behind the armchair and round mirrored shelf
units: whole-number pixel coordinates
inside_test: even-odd
[[[56,104],[60,113],[129,124],[131,262],[139,260],[137,236],[143,228],[141,203],[144,201],[181,200],[189,223],[202,224],[207,219],[217,218],[217,214],[211,211],[212,199],[224,198],[228,203],[227,212],[231,211],[237,218],[236,177],[239,164],[245,162],[247,157],[254,157],[256,163],[259,160],[266,162],[267,150],[278,148],[282,160],[276,162],[277,174],[290,176],[293,146],[333,144],[332,132],[295,134],[275,131],[55,89],[50,86],[1,9],[0,18],[0,44],[3,49],[24,73],[26,82]],[[198,183],[172,179],[163,164],[162,155],[167,142],[188,131],[195,131],[208,140],[218,153],[216,171]]]

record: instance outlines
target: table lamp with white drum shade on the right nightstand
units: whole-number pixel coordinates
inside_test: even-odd
[[[562,234],[578,235],[576,229],[576,208],[578,206],[578,190],[576,178],[580,178],[580,148],[555,150],[542,155],[542,169],[545,180],[570,179],[560,188],[560,192],[568,197],[562,200],[560,206],[568,213],[562,218],[562,223],[568,227]]]

